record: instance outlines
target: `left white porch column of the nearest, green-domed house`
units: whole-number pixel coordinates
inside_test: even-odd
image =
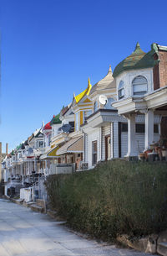
[[[135,140],[135,115],[129,114],[128,118],[128,154],[127,156],[137,156]]]

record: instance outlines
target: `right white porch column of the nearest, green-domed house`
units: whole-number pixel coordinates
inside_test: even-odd
[[[149,110],[145,112],[145,149],[149,149],[150,144],[154,141],[154,112]]]

